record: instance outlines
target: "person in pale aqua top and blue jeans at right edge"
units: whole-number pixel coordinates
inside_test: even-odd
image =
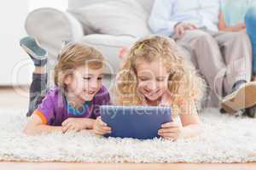
[[[256,81],[256,0],[222,0],[219,31],[247,31],[253,46],[253,81]],[[247,116],[256,116],[256,105],[247,109]]]

